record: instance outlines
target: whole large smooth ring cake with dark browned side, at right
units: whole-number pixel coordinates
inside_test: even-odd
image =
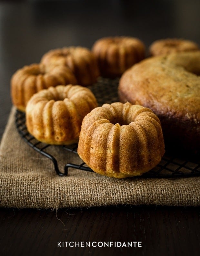
[[[165,145],[200,150],[200,51],[141,61],[119,82],[120,101],[140,104],[159,117]]]

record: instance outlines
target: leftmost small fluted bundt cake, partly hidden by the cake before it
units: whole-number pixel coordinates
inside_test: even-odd
[[[67,67],[47,70],[44,65],[32,64],[18,69],[11,78],[11,98],[17,109],[25,112],[31,96],[50,86],[76,84],[76,78]]]

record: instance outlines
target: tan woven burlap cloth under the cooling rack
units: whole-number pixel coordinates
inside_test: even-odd
[[[0,147],[0,206],[65,208],[108,205],[200,205],[200,177],[118,180],[70,169],[57,176],[54,165],[20,137],[12,108]],[[81,163],[78,156],[53,146],[59,167]]]

